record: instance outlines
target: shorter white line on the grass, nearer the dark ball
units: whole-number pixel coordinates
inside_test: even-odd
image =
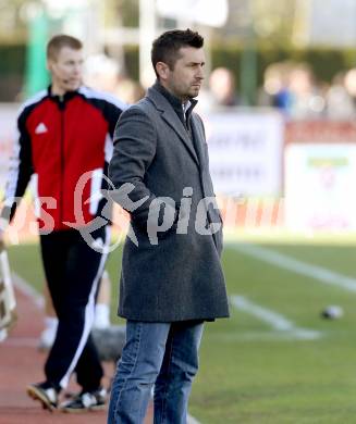
[[[274,331],[289,333],[291,337],[297,339],[316,339],[321,336],[320,332],[314,329],[299,328],[295,324],[287,320],[285,316],[271,311],[270,309],[262,308],[259,304],[251,302],[243,296],[231,296],[231,303],[240,311],[246,312],[256,316],[260,321],[269,324]]]

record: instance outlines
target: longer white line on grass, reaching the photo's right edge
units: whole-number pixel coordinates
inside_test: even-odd
[[[271,263],[278,267],[292,271],[296,274],[305,275],[321,283],[344,288],[348,291],[356,291],[356,278],[335,273],[322,266],[311,265],[297,259],[287,257],[275,251],[265,249],[260,246],[251,245],[228,245],[234,250],[257,258],[263,262]]]

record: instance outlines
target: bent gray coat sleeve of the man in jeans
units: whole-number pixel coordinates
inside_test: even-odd
[[[145,183],[148,167],[157,150],[157,129],[137,105],[123,112],[114,132],[114,150],[109,164],[109,178],[114,187],[111,198],[130,212],[133,221],[144,227],[156,199]],[[175,213],[175,210],[171,211]]]

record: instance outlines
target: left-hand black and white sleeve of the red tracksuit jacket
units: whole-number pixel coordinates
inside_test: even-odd
[[[14,139],[12,157],[10,158],[5,199],[1,219],[11,222],[20,199],[26,190],[32,174],[30,137],[26,129],[25,115],[22,113],[17,119],[16,137]]]

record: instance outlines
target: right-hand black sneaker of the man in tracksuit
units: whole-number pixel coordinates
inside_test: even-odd
[[[63,412],[86,412],[99,411],[105,409],[107,390],[100,388],[95,391],[82,391],[60,404],[60,410]]]

